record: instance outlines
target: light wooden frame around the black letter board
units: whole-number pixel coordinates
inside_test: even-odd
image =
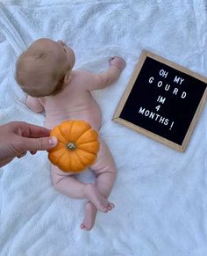
[[[139,72],[142,69],[142,66],[143,66],[144,62],[146,61],[147,56],[156,60],[156,61],[158,61],[158,62],[164,63],[164,64],[168,65],[169,67],[171,67],[173,69],[177,69],[177,70],[181,71],[182,73],[185,73],[185,74],[189,75],[190,77],[195,77],[196,79],[198,79],[198,80],[202,81],[203,83],[207,84],[207,78],[206,77],[203,77],[199,74],[196,74],[195,72],[190,71],[189,69],[185,69],[182,66],[176,64],[175,62],[170,62],[167,59],[164,59],[163,57],[161,57],[159,55],[154,55],[153,53],[151,53],[149,51],[143,50],[142,54],[140,55],[139,62],[136,64],[135,69],[132,73],[132,77],[130,78],[129,83],[126,86],[125,92],[124,92],[122,98],[120,99],[120,101],[118,103],[118,107],[117,107],[116,112],[113,115],[112,121],[116,121],[116,122],[124,125],[127,128],[132,128],[133,130],[139,132],[140,134],[143,134],[143,135],[146,135],[150,138],[153,138],[153,140],[155,140],[155,141],[158,141],[160,143],[164,143],[164,144],[168,145],[169,147],[171,147],[175,150],[183,152],[184,150],[186,150],[186,147],[189,143],[190,135],[192,134],[192,132],[193,132],[195,126],[196,126],[196,121],[198,120],[198,118],[199,118],[199,116],[200,116],[200,114],[203,110],[203,106],[204,106],[206,98],[207,98],[207,88],[205,89],[205,91],[203,93],[203,97],[200,100],[199,105],[197,106],[196,113],[195,113],[195,115],[194,115],[194,117],[193,117],[193,119],[192,119],[192,121],[189,125],[188,132],[186,133],[186,135],[184,137],[182,145],[174,143],[172,141],[169,141],[168,139],[166,139],[164,137],[161,137],[160,135],[156,135],[153,132],[150,132],[150,131],[146,130],[145,128],[141,128],[141,127],[139,127],[139,126],[137,126],[137,125],[135,125],[135,124],[133,124],[129,121],[125,121],[124,119],[120,118],[120,114],[121,114],[121,112],[122,112],[122,110],[125,106],[125,102],[128,99],[128,97],[129,97],[129,95],[132,91],[132,87],[133,87],[137,77],[139,76]]]

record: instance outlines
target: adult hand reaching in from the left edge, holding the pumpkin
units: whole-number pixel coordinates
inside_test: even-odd
[[[0,126],[0,167],[14,157],[24,157],[29,150],[49,150],[57,144],[57,138],[49,137],[50,130],[23,121],[12,121]]]

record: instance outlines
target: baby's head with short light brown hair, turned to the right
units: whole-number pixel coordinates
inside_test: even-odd
[[[73,50],[61,40],[35,40],[18,58],[16,80],[32,97],[54,95],[68,83],[74,64]]]

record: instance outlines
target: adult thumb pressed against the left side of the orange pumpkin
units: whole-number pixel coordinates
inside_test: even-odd
[[[49,150],[54,148],[58,143],[58,139],[52,137],[40,137],[40,138],[23,138],[22,149],[23,150]]]

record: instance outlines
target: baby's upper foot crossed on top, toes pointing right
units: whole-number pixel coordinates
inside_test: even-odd
[[[98,191],[95,184],[87,184],[85,188],[86,197],[91,201],[97,210],[108,212],[114,205],[107,201]]]

